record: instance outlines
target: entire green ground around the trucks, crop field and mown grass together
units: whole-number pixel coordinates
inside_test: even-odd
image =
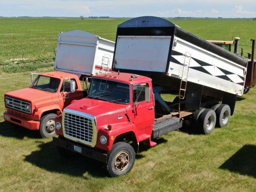
[[[127,175],[108,177],[104,164],[79,155],[61,157],[52,139],[3,122],[3,94],[28,87],[30,72],[52,71],[58,32],[82,29],[115,40],[125,20],[0,19],[0,191],[256,191],[256,90],[238,98],[225,128],[212,134],[181,129],[157,145],[141,145]],[[250,52],[256,21],[172,20],[205,39],[241,38]],[[10,59],[24,58],[13,64]],[[172,101],[173,95],[164,99]]]

